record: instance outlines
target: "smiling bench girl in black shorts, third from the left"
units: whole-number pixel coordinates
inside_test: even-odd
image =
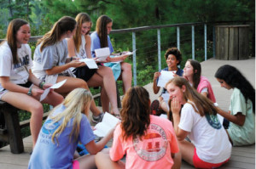
[[[69,57],[79,59],[91,58],[90,54],[90,16],[80,13],[75,19],[78,23],[77,30],[73,38],[67,39],[67,49]],[[101,100],[102,110],[109,112],[109,101],[111,103],[112,114],[119,115],[117,107],[116,85],[111,68],[98,64],[99,69],[89,69],[87,65],[72,68],[76,77],[87,82],[89,87],[102,87]],[[92,116],[92,121],[95,117]]]

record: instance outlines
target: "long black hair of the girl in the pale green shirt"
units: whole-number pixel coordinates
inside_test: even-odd
[[[241,74],[236,67],[232,65],[222,65],[218,68],[215,75],[216,78],[224,80],[230,87],[238,88],[244,98],[250,99],[253,103],[253,113],[255,113],[255,89],[246,77]]]

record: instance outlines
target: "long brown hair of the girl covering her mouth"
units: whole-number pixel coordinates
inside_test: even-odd
[[[180,88],[182,88],[183,86],[186,87],[186,90],[183,93],[184,99],[188,104],[191,104],[193,106],[196,113],[200,114],[201,116],[204,116],[206,114],[217,115],[217,109],[212,101],[204,97],[201,93],[198,93],[195,88],[189,85],[189,82],[185,78],[179,76],[174,77],[172,80],[166,83],[166,87],[171,83]],[[171,101],[169,101],[169,107],[170,110],[168,116],[171,117]]]

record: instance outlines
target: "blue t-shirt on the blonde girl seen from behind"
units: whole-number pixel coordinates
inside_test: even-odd
[[[58,115],[66,107],[61,105],[55,110],[53,115]],[[55,144],[51,141],[52,133],[56,128],[61,125],[61,121],[52,123],[52,120],[48,118],[38,135],[38,141],[33,149],[28,168],[40,169],[40,168],[55,168],[55,169],[67,169],[73,168],[73,155],[79,142],[81,144],[88,144],[95,139],[95,136],[91,130],[90,122],[86,116],[82,115],[80,122],[79,138],[75,141],[70,141],[69,135],[73,129],[73,119],[71,119],[67,127],[58,136],[58,143]]]

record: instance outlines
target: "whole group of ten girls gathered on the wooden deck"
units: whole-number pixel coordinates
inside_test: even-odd
[[[76,20],[62,17],[38,40],[32,64],[27,44],[31,36],[29,24],[20,19],[10,22],[6,41],[0,46],[0,99],[32,113],[29,168],[180,168],[181,159],[197,168],[212,168],[229,161],[232,144],[255,143],[255,90],[230,65],[220,67],[215,74],[222,87],[234,89],[230,113],[226,113],[213,105],[216,100],[212,87],[201,76],[200,63],[189,59],[180,77],[182,70],[177,65],[181,53],[177,48],[168,49],[166,70],[176,70],[177,74],[165,87],[170,99],[162,110],[167,110],[168,120],[150,115],[150,107],[155,106],[146,89],[131,87],[131,65],[108,64],[113,71],[119,67],[117,78],[116,72],[100,64],[98,70],[88,69],[79,59],[91,58],[96,48],[109,47],[113,53],[108,37],[112,24],[102,15],[90,39],[88,14],[79,14]],[[122,54],[107,61],[123,61],[126,57]],[[130,80],[125,79],[127,76]],[[156,93],[160,90],[155,86],[159,76],[158,72],[154,74]],[[124,81],[125,90],[121,122],[95,143],[89,110],[94,121],[100,121],[103,114],[96,108],[89,87],[101,86],[102,97],[110,101],[112,113],[119,114],[115,98],[118,78]],[[55,108],[41,127],[44,109],[38,101],[40,95],[64,79],[67,82],[42,101]],[[104,110],[109,110],[107,104],[106,101]],[[217,114],[230,122],[226,132]],[[112,148],[103,149],[111,138]],[[78,143],[84,144],[90,155],[77,155]],[[120,160],[125,155],[124,163]]]

